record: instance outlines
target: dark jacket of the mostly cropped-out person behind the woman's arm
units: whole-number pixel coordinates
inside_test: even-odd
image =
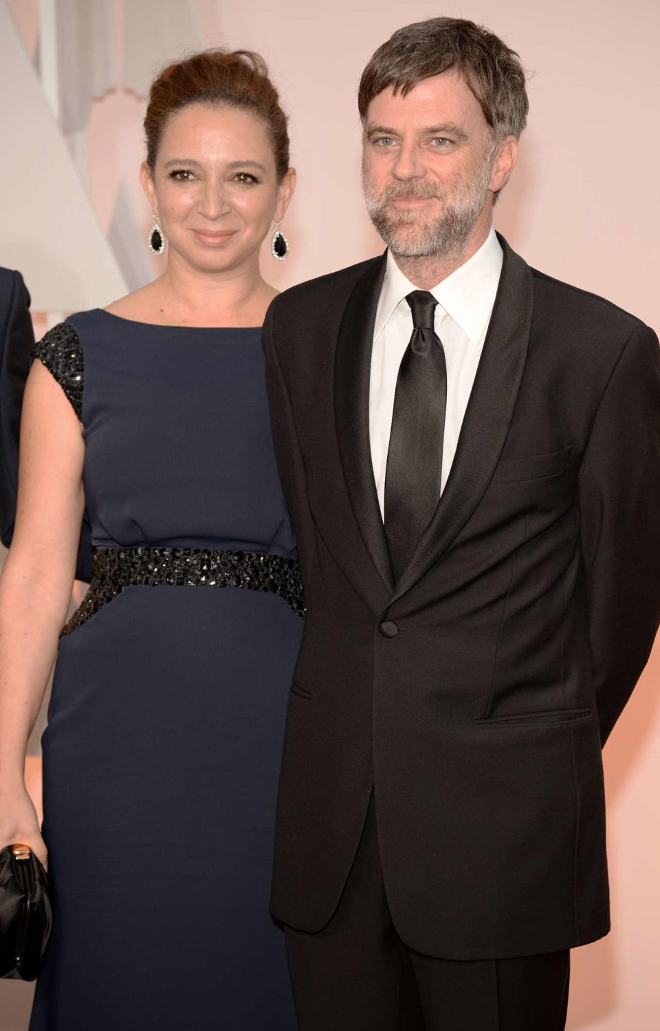
[[[21,409],[34,333],[30,295],[20,272],[0,268],[0,539],[8,547],[13,535],[19,487]],[[92,576],[92,543],[82,522],[76,576]]]

